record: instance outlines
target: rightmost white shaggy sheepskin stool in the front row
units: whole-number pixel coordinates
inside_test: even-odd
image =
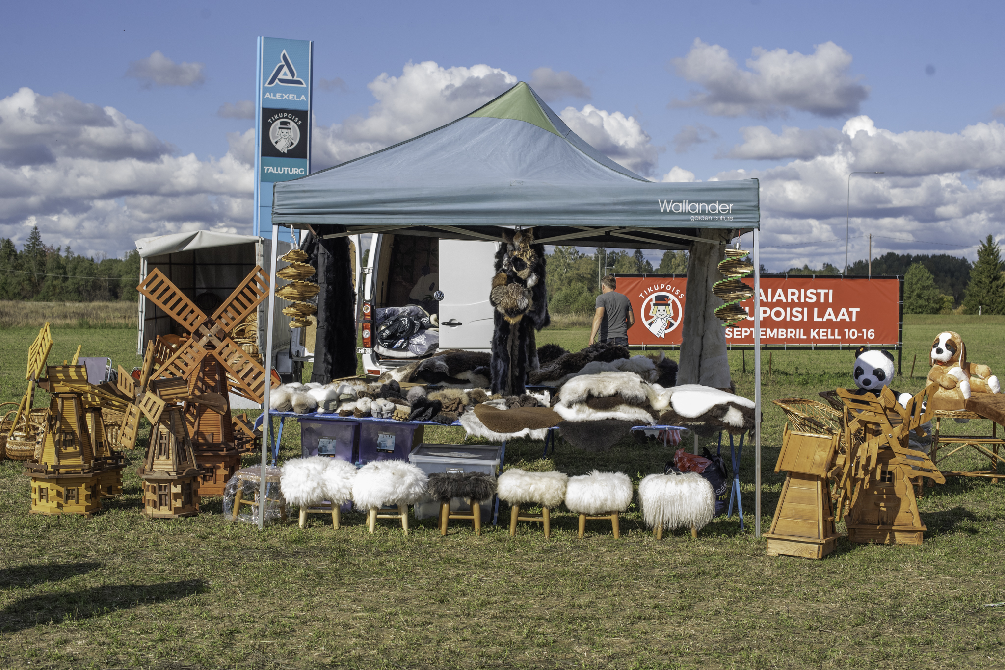
[[[663,529],[690,528],[691,537],[716,514],[716,491],[696,472],[650,474],[638,485],[642,520],[653,529],[656,539]]]

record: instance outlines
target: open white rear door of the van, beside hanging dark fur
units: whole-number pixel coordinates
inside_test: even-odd
[[[440,350],[491,351],[495,249],[495,242],[439,241]]]

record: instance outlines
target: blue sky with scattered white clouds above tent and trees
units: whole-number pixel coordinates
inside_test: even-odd
[[[220,113],[252,98],[264,34],[315,40],[316,81],[329,82],[315,86],[316,167],[450,121],[508,81],[551,81],[556,111],[602,122],[594,141],[650,179],[758,176],[772,269],[843,263],[849,166],[886,173],[852,182],[852,259],[867,232],[876,253],[973,258],[1005,214],[1002,14],[772,0],[21,3],[0,43],[0,236],[20,242],[38,225],[52,243],[118,254],[146,235],[250,232],[252,122]],[[443,86],[479,76],[481,97],[441,103]],[[94,121],[100,108],[111,116]],[[823,243],[837,237],[840,253]]]

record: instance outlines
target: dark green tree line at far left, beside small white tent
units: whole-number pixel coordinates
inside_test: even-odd
[[[18,251],[0,238],[0,300],[41,302],[136,301],[140,283],[140,252],[123,258],[81,256],[67,245],[53,247],[32,228]]]

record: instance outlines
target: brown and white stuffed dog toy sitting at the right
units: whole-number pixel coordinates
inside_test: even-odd
[[[937,410],[962,410],[974,393],[998,393],[1001,385],[991,368],[967,361],[967,347],[957,332],[940,332],[932,343],[929,383],[939,384]]]

